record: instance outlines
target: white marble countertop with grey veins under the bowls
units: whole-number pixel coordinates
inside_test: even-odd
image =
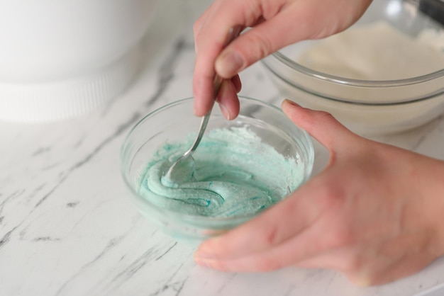
[[[393,296],[444,281],[443,260],[374,288],[323,270],[221,273],[145,221],[121,181],[119,149],[143,115],[192,96],[192,20],[209,4],[160,2],[140,76],[109,106],[60,123],[0,123],[0,295]],[[280,103],[262,64],[241,77],[244,95]],[[444,118],[380,140],[444,159]],[[326,153],[316,150],[319,171]]]

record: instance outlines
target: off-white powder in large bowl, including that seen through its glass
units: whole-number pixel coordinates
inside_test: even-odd
[[[294,57],[299,64],[351,79],[397,80],[444,69],[444,33],[426,29],[411,37],[384,21],[356,26],[324,40],[300,42],[292,49],[298,53]],[[420,84],[369,87],[338,84],[298,73],[289,75],[288,79],[299,87],[274,77],[285,96],[302,106],[326,110],[350,129],[366,135],[408,130],[427,123],[444,110],[444,77]],[[404,101],[415,103],[377,105]]]

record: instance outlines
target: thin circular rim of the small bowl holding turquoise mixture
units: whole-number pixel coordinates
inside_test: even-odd
[[[260,101],[256,98],[249,98],[246,96],[238,96],[241,100],[246,100],[246,101],[254,101],[255,103],[260,103],[263,106],[267,106],[268,108],[272,108],[274,110],[277,110],[279,113],[282,113],[282,110],[277,108],[277,106],[274,106],[272,103],[267,103],[265,101]],[[150,203],[148,200],[145,200],[144,198],[142,198],[140,195],[138,195],[138,193],[135,191],[134,186],[131,185],[131,183],[128,181],[128,179],[126,178],[126,174],[123,170],[123,154],[125,152],[126,147],[128,146],[128,140],[131,137],[132,133],[137,129],[137,127],[139,125],[141,125],[145,120],[148,120],[150,117],[152,117],[153,115],[162,112],[163,110],[170,108],[172,106],[176,106],[179,105],[181,103],[187,102],[192,100],[193,97],[189,97],[189,98],[182,98],[178,101],[174,101],[172,103],[167,103],[164,106],[157,108],[156,110],[153,110],[152,112],[148,113],[147,115],[145,115],[142,119],[140,119],[138,121],[138,123],[136,123],[131,130],[128,132],[128,134],[126,135],[125,139],[123,140],[123,144],[121,145],[121,150],[120,150],[120,156],[119,156],[119,162],[120,162],[120,171],[121,171],[121,176],[123,178],[123,181],[125,182],[127,188],[131,191],[131,194],[134,195],[136,198],[138,198],[139,200],[141,200],[145,205],[148,205],[151,210],[155,210],[156,212],[161,212],[163,215],[173,215],[174,217],[180,217],[182,220],[194,220],[194,222],[231,222],[231,223],[235,223],[235,222],[243,222],[245,220],[248,220],[252,217],[255,217],[257,215],[260,214],[260,212],[256,212],[254,214],[250,214],[250,215],[243,215],[243,216],[235,216],[235,217],[211,217],[211,216],[199,216],[199,215],[189,215],[189,214],[184,214],[181,212],[175,212],[173,210],[169,210],[169,209],[165,209],[165,208],[161,208],[161,207],[157,207],[157,205],[154,205],[152,203]],[[309,136],[309,133],[306,132],[306,130],[302,129],[301,127],[295,125],[297,128],[299,128],[299,130],[301,130],[302,135],[304,135],[305,140],[306,140],[306,144],[308,144],[308,147],[304,147],[304,149],[307,149],[307,152],[309,154],[310,157],[310,166],[308,168],[307,171],[307,177],[306,180],[303,181],[303,183],[301,183],[300,186],[304,185],[304,183],[306,183],[306,181],[308,180],[309,176],[311,176],[311,172],[313,171],[313,161],[314,161],[314,148],[313,148],[313,142],[311,141],[311,138]],[[296,188],[297,190],[297,188]],[[285,197],[287,198],[287,197]],[[282,200],[284,200],[285,198],[283,198]]]

